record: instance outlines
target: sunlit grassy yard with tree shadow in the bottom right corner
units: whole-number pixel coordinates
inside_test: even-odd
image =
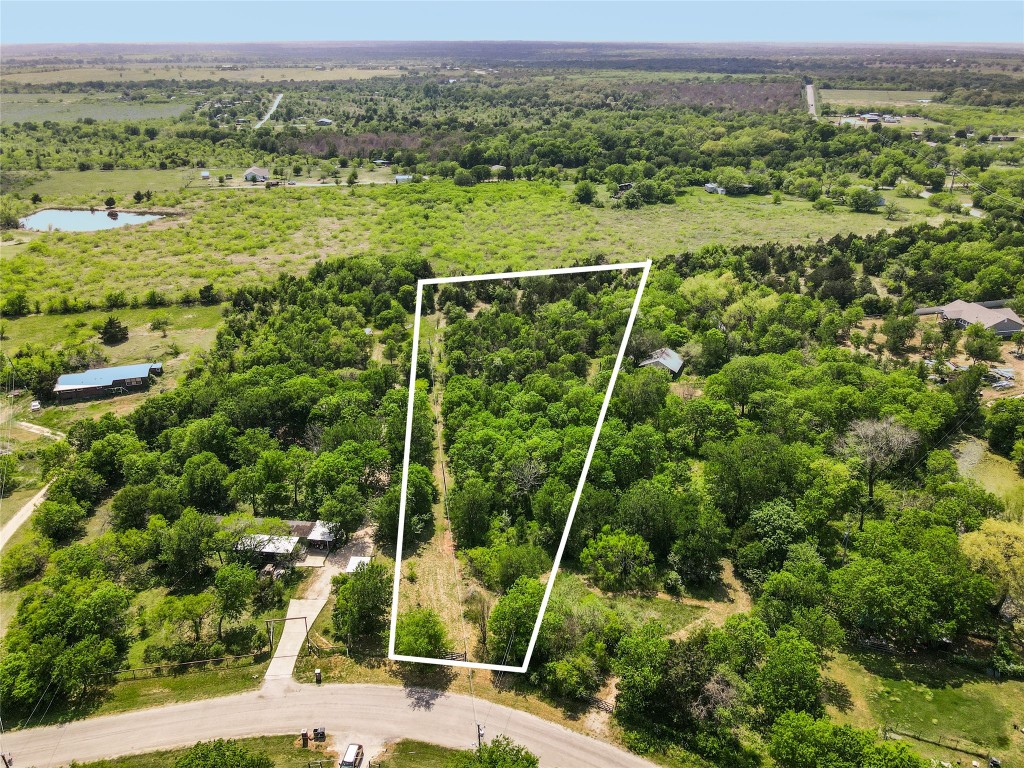
[[[833,695],[829,714],[865,728],[892,729],[941,741],[908,742],[928,758],[954,762],[988,753],[1008,768],[1024,765],[1024,682],[995,682],[984,675],[922,657],[904,660],[878,653],[838,653],[825,670]]]

